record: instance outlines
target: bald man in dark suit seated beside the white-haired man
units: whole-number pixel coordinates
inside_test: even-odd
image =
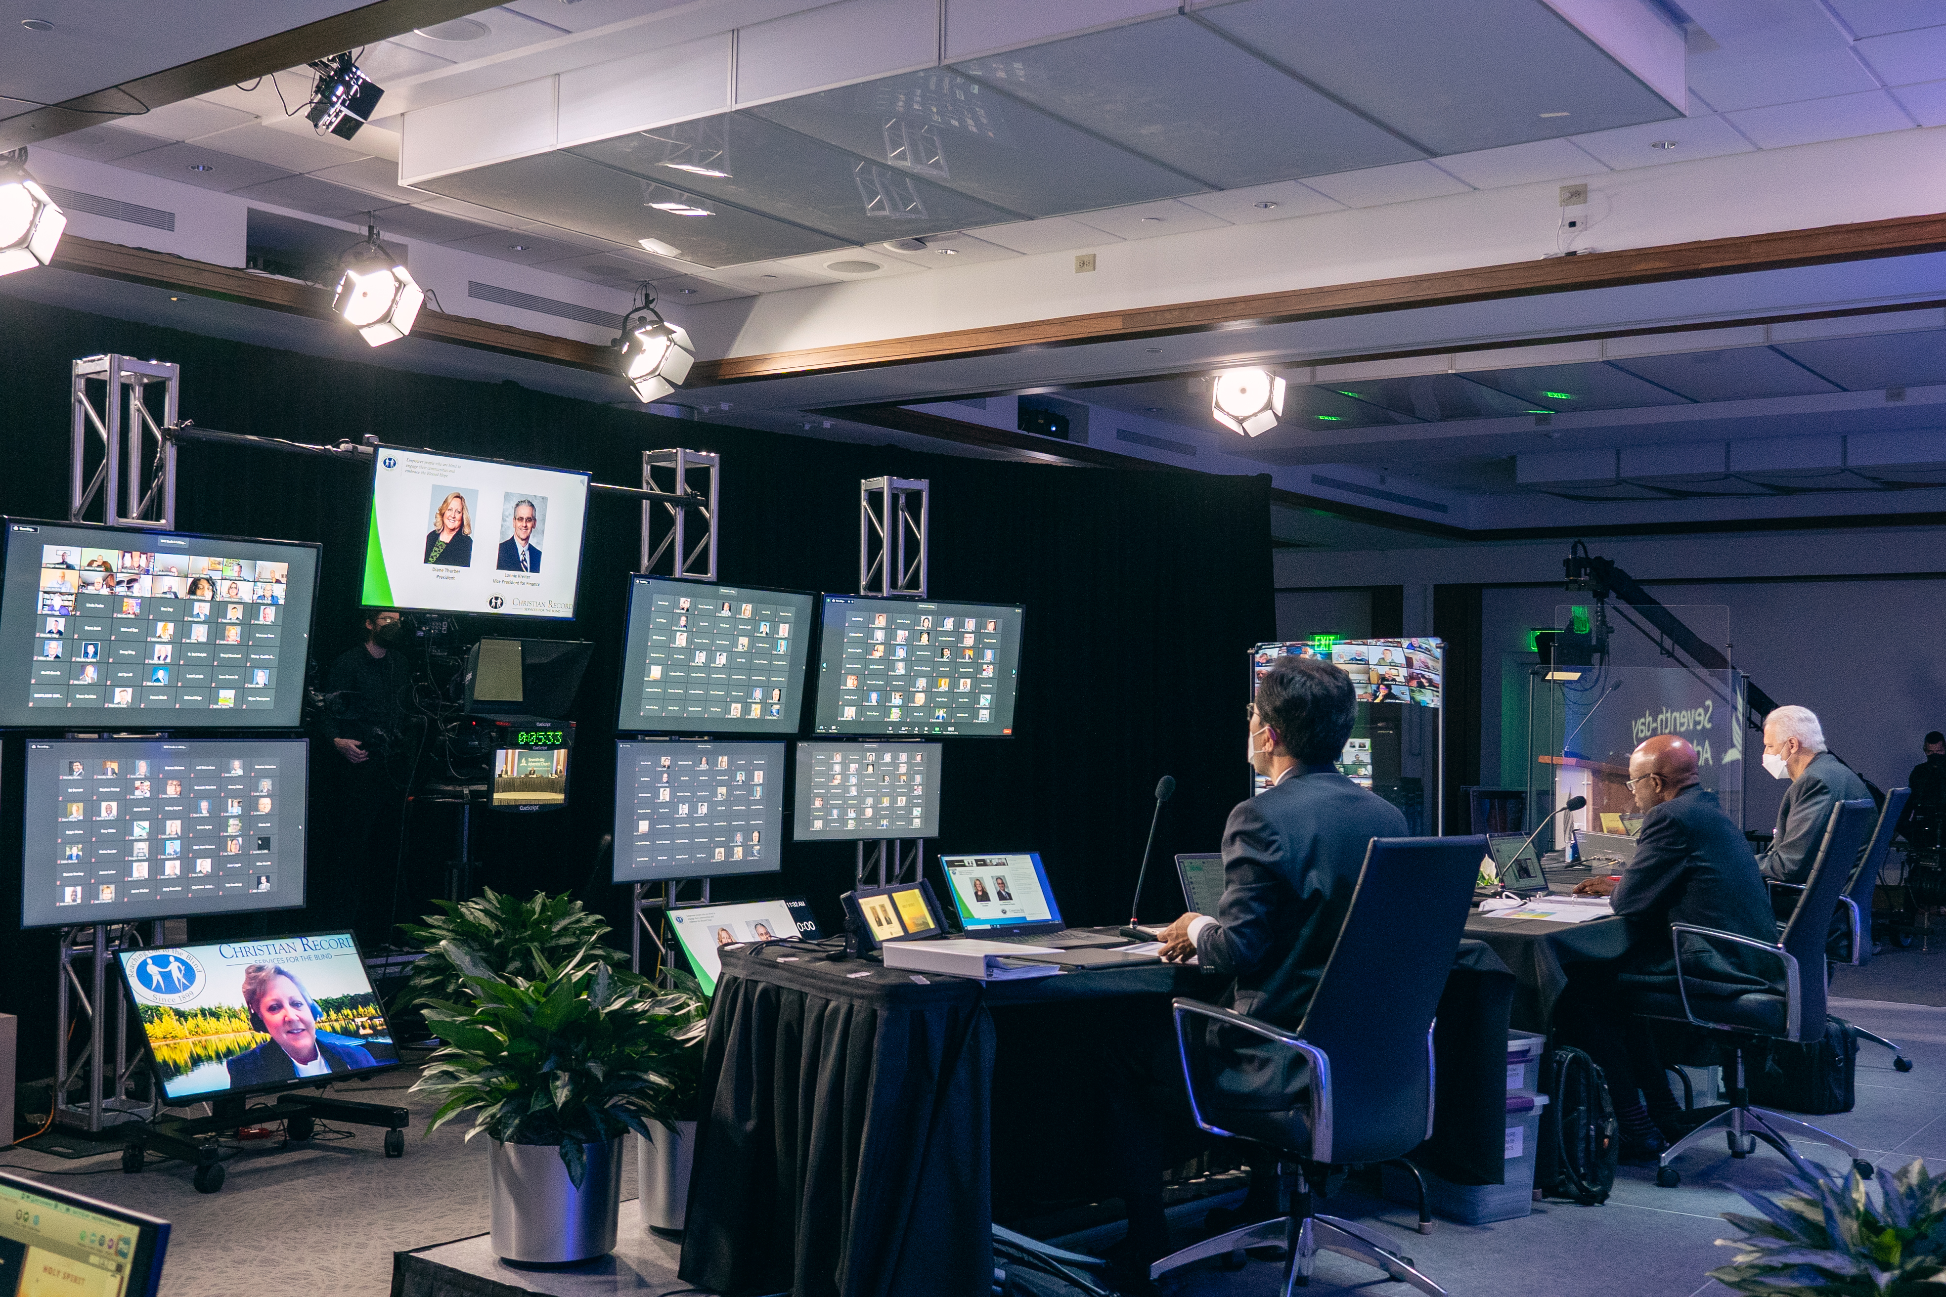
[[[1642,811],[1635,859],[1619,877],[1574,887],[1582,896],[1613,896],[1629,928],[1629,949],[1611,964],[1570,982],[1555,1007],[1555,1025],[1588,1052],[1607,1077],[1621,1124],[1623,1155],[1662,1153],[1664,1132],[1679,1124],[1662,1060],[1642,1019],[1631,1015],[1637,994],[1676,992],[1672,924],[1734,931],[1777,941],[1777,920],[1744,830],[1724,815],[1714,793],[1697,782],[1697,751],[1676,735],[1656,735],[1629,754],[1629,791]],[[1755,953],[1693,953],[1689,990],[1736,996],[1769,986]]]

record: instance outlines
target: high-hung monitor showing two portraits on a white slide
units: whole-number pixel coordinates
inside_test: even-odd
[[[586,473],[374,447],[362,603],[570,618],[586,513]]]

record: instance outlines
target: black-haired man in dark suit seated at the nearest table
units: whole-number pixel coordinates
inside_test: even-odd
[[[1230,811],[1216,914],[1183,914],[1162,933],[1164,959],[1195,955],[1230,978],[1218,999],[1224,1007],[1279,1027],[1304,1021],[1372,838],[1405,836],[1397,807],[1337,772],[1354,704],[1351,677],[1327,661],[1279,657],[1271,665],[1249,710],[1249,764],[1271,788]],[[1249,1044],[1226,1052],[1226,1089],[1242,1103],[1288,1106],[1294,1077],[1282,1054]],[[1129,1241],[1117,1264],[1133,1272],[1168,1250],[1162,1171],[1187,1097],[1166,1019],[1156,1036],[1129,1040],[1123,1056],[1129,1068],[1109,1089],[1109,1110],[1129,1206]],[[1249,1200],[1236,1219],[1275,1211],[1275,1167],[1253,1167]]]

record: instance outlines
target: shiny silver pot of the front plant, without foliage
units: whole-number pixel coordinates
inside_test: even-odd
[[[492,1145],[492,1250],[527,1264],[566,1264],[615,1250],[621,1136],[584,1143],[588,1176],[568,1178],[555,1143]]]

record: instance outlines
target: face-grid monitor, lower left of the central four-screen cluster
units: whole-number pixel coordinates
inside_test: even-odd
[[[617,743],[615,881],[782,869],[782,743]]]

